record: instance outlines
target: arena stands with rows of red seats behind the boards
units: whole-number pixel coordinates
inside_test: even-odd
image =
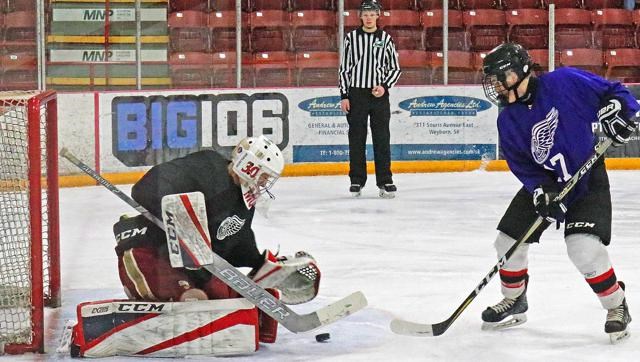
[[[37,87],[35,3],[0,1],[1,89]],[[393,36],[404,71],[399,84],[442,84],[442,1],[380,3],[379,25]],[[337,4],[242,1],[242,86],[336,86]],[[344,1],[345,32],[359,26],[359,4]],[[448,82],[479,83],[484,54],[504,41],[523,44],[546,71],[548,5],[547,0],[449,1]],[[135,87],[135,19],[125,12],[132,6],[133,0],[47,2],[48,87]],[[555,66],[640,82],[639,9],[624,9],[623,0],[558,0],[555,6]],[[236,86],[235,0],[150,0],[142,10],[143,87]]]

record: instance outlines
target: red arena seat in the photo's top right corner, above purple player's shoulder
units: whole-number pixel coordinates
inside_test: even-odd
[[[593,38],[596,48],[634,48],[635,29],[631,11],[600,9],[593,11]]]

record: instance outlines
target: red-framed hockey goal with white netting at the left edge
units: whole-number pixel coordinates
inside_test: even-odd
[[[60,305],[57,101],[0,92],[0,354],[44,352]]]

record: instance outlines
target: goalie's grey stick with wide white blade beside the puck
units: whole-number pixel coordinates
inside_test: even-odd
[[[102,186],[129,204],[129,206],[136,209],[136,211],[164,230],[162,220],[151,214],[142,205],[120,191],[120,189],[108,180],[98,175],[95,170],[76,158],[66,148],[60,150],[60,156],[69,160],[84,173],[91,176]],[[233,290],[293,333],[307,332],[325,326],[367,306],[367,299],[364,297],[364,294],[362,294],[362,292],[355,292],[315,312],[300,315],[292,311],[286,304],[272,296],[216,253],[213,253],[213,263],[204,265],[203,268],[211,272],[215,277],[222,280]]]

